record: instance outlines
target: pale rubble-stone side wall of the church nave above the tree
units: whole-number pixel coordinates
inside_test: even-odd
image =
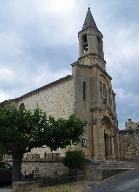
[[[17,106],[22,103],[27,109],[33,110],[36,106],[39,106],[42,110],[55,118],[68,118],[74,113],[74,83],[72,76],[67,76],[63,79],[57,80],[43,88],[26,94],[18,99]],[[31,153],[38,153],[43,158],[44,154],[49,153],[50,149],[35,148]],[[64,156],[65,150],[57,150],[62,156]]]

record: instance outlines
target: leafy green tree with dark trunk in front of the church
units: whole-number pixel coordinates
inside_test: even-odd
[[[46,145],[57,150],[77,144],[85,122],[75,115],[56,120],[38,107],[31,112],[24,106],[0,107],[0,147],[13,158],[13,182],[21,181],[23,154]]]

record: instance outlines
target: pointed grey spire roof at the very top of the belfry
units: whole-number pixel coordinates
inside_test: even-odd
[[[88,7],[87,15],[86,15],[86,18],[85,18],[82,30],[84,30],[84,29],[86,29],[88,27],[92,27],[92,28],[98,29],[97,25],[95,23],[95,20],[93,18],[93,15],[91,13],[90,7]]]

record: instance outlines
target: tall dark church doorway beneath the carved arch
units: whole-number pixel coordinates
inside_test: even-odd
[[[113,159],[112,126],[111,121],[107,117],[103,119],[102,128],[104,129],[105,158],[106,160],[112,160]]]

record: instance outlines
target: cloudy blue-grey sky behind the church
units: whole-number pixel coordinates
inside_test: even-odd
[[[139,121],[139,1],[90,3],[123,128],[128,118]],[[88,0],[0,0],[0,101],[71,74],[87,7]]]

